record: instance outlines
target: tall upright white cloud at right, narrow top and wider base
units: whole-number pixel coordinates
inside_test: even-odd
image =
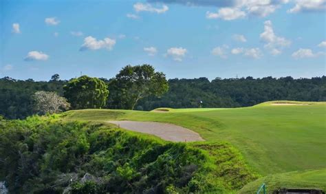
[[[287,47],[291,44],[291,41],[276,36],[273,30],[272,21],[265,21],[264,31],[260,34],[260,39],[265,42],[264,47],[270,50],[273,55],[281,54],[283,47]]]

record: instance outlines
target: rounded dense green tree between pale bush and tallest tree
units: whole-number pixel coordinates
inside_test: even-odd
[[[99,78],[80,76],[63,86],[64,96],[73,109],[98,109],[105,106],[109,90]]]

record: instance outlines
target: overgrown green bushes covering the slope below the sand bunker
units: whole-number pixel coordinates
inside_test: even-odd
[[[222,193],[256,178],[227,143],[163,142],[56,115],[0,121],[10,193]]]

